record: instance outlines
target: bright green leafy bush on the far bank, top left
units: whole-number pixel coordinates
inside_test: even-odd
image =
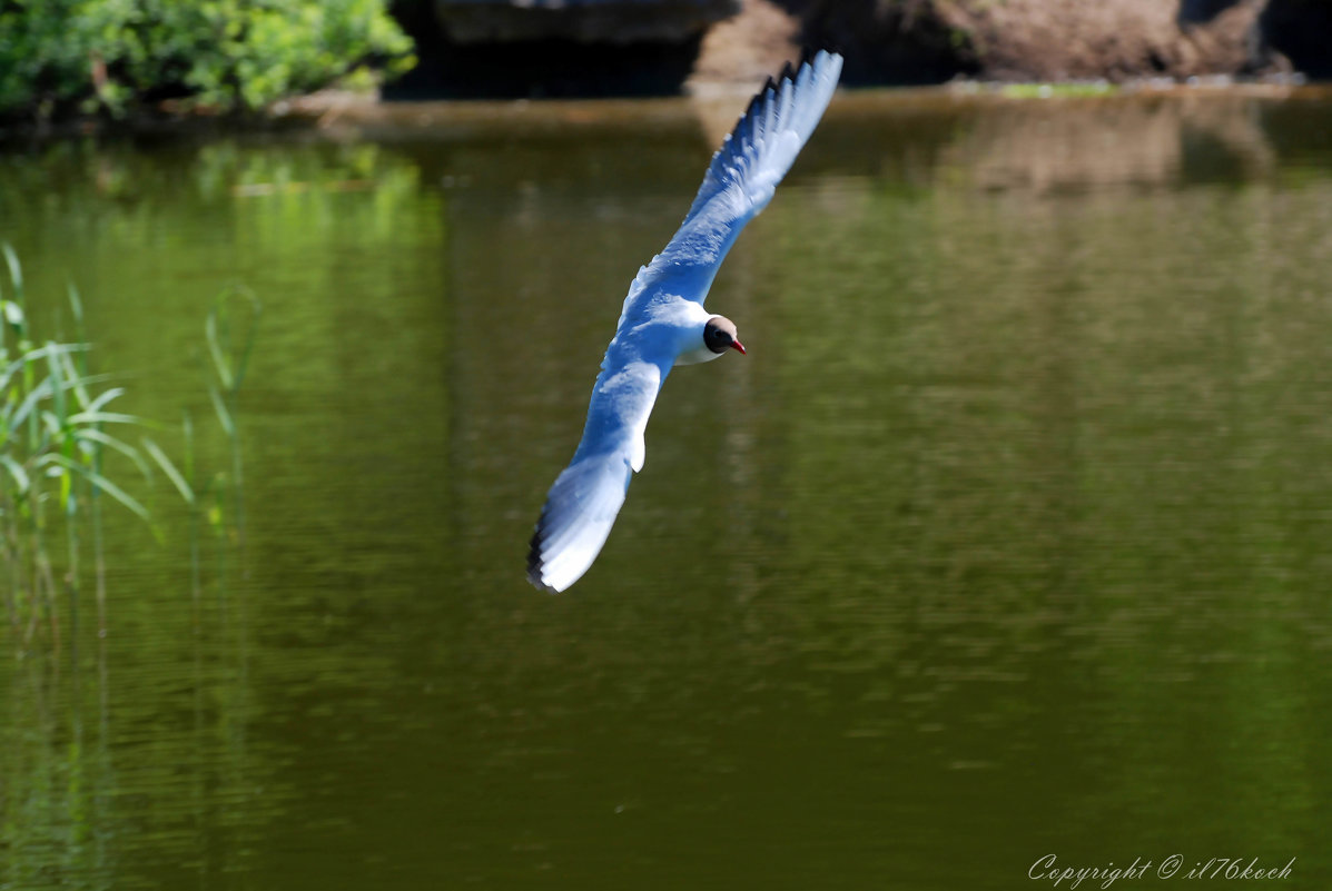
[[[414,63],[385,0],[0,0],[0,115],[222,111]]]

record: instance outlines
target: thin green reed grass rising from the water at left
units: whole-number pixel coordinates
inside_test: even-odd
[[[107,498],[140,517],[161,541],[144,505],[120,479],[108,477],[107,450],[123,455],[145,481],[159,467],[189,507],[190,586],[201,589],[200,531],[206,523],[217,542],[234,534],[244,542],[242,462],[236,408],[254,344],[258,300],[230,289],[214,301],[204,325],[208,394],[230,446],[229,470],[205,471],[196,459],[194,426],[181,426],[184,471],[152,438],[135,446],[117,436],[133,426],[155,426],[111,410],[124,389],[111,376],[88,370],[83,301],[71,286],[68,300],[77,342],[36,341],[24,293],[23,268],[13,249],[0,244],[8,286],[0,280],[0,558],[4,605],[15,631],[28,642],[39,627],[60,642],[57,595],[68,595],[69,622],[77,630],[84,541],[91,531],[97,625],[107,627],[103,503]],[[228,517],[230,514],[230,517]],[[225,547],[218,546],[220,571]],[[57,578],[57,555],[63,563]]]

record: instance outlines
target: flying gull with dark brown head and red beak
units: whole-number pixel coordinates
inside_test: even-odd
[[[750,101],[703,174],[694,204],[666,249],[638,270],[601,361],[582,441],[550,487],[527,553],[527,579],[557,593],[597,559],[634,473],[643,430],[675,365],[745,353],[735,322],[703,309],[717,269],[745,224],[814,133],[842,73],[842,56],[819,52],[787,65]]]

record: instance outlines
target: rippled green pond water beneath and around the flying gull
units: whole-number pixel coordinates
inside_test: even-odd
[[[713,289],[749,357],[539,594],[721,105],[0,154],[125,410],[205,429],[209,302],[264,301],[197,619],[159,479],[105,637],[0,631],[0,888],[1332,883],[1332,103],[840,97]]]

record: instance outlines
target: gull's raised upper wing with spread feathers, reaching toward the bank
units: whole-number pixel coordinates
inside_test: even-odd
[[[773,200],[777,184],[814,133],[842,75],[842,56],[819,52],[774,83],[769,80],[713,154],[703,184],[666,249],[638,270],[625,298],[621,328],[658,286],[699,304],[745,224]]]

